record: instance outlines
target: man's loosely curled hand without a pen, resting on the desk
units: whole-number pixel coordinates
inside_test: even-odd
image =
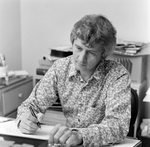
[[[82,136],[77,131],[71,131],[66,126],[56,125],[50,132],[49,144],[61,144],[65,147],[77,146],[82,143]]]

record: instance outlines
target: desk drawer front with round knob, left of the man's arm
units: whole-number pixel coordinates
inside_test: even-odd
[[[10,88],[2,93],[3,116],[11,113],[29,96],[33,82],[27,82]]]

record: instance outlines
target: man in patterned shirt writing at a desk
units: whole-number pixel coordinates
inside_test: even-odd
[[[18,108],[18,127],[34,133],[40,119],[59,97],[66,126],[51,131],[49,146],[99,147],[126,137],[131,117],[130,78],[118,62],[106,60],[116,46],[116,30],[102,15],[86,15],[75,23],[70,39],[73,55],[54,62]]]

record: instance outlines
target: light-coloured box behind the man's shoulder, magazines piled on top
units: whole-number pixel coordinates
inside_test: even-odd
[[[142,83],[146,79],[147,55],[127,56],[112,54],[108,59],[122,63],[131,74],[131,82]]]

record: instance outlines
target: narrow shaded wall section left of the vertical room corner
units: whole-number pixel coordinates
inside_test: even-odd
[[[22,68],[20,0],[0,0],[0,53],[9,70]]]

